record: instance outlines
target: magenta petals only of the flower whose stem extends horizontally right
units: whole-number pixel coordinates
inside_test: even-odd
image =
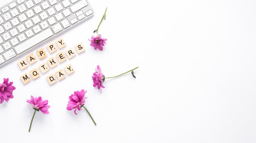
[[[102,83],[105,80],[105,76],[101,72],[101,68],[99,65],[97,65],[97,69],[95,69],[96,72],[93,73],[92,81],[93,81],[93,87],[98,87],[98,89],[105,88]]]

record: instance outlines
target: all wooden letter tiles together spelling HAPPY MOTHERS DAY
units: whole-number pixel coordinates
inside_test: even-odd
[[[56,40],[56,45],[58,46],[58,49],[62,49],[62,48],[66,47],[66,43],[65,43],[63,38]],[[54,53],[58,50],[56,45],[54,43],[49,43],[46,46],[47,50],[49,51],[50,54],[52,54],[52,53]],[[76,52],[78,54],[85,51],[82,43],[79,43],[79,44],[75,45],[74,47],[75,47]],[[44,58],[47,57],[47,53],[45,52],[44,48],[41,48],[40,50],[37,50],[36,54],[37,54],[39,59],[44,59]],[[58,65],[58,63],[63,63],[64,61],[66,61],[67,57],[68,58],[73,58],[74,56],[76,56],[75,51],[73,50],[73,48],[69,48],[69,49],[65,50],[65,53],[64,52],[59,52],[58,54],[56,54],[56,58],[54,58],[54,56],[53,56],[53,57],[47,59],[46,62],[41,63],[38,66],[38,69],[40,70],[40,72],[42,74],[45,74],[46,72],[49,71],[49,69],[52,69],[52,68],[56,67],[56,65]],[[26,59],[27,59],[28,62],[26,61]],[[24,59],[21,59],[20,61],[18,61],[18,65],[19,65],[21,70],[26,69],[27,67],[29,67],[29,64],[32,65],[32,64],[34,64],[38,61],[36,56],[34,55],[34,53],[29,54],[26,57],[26,59],[24,58]],[[32,69],[29,72],[29,74],[30,74],[30,76],[32,77],[33,80],[40,77],[40,73],[39,73],[38,69],[35,68],[35,69]],[[64,67],[64,70],[67,73],[67,75],[70,75],[73,72],[75,72],[74,67],[71,64],[66,65]],[[20,76],[20,79],[24,84],[27,84],[28,82],[31,81],[31,77],[29,76],[29,74],[25,73],[22,76]],[[57,72],[55,72],[55,75],[51,74],[51,75],[46,77],[46,79],[47,79],[47,81],[49,82],[50,85],[57,82],[56,77],[58,78],[58,80],[62,80],[63,78],[66,77],[63,69],[60,69]]]

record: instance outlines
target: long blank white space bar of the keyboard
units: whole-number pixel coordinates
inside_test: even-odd
[[[53,32],[52,32],[51,28],[48,28],[48,29],[44,30],[43,32],[40,32],[38,35],[21,43],[20,45],[17,45],[14,49],[16,50],[17,54],[20,54],[20,53],[24,52],[25,50],[33,47],[34,45],[40,43],[41,41],[51,37],[52,35],[53,35]]]

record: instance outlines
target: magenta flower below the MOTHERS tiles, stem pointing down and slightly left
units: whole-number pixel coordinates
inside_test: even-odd
[[[33,109],[35,110],[29,126],[29,132],[30,132],[31,125],[32,125],[34,116],[36,114],[36,111],[41,111],[44,114],[49,114],[48,109],[50,108],[50,106],[48,106],[48,100],[42,100],[40,96],[38,98],[34,98],[33,96],[31,96],[31,100],[27,100],[27,103],[30,103],[33,106]]]

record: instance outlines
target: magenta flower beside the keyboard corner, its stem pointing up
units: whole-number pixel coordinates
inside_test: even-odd
[[[106,8],[105,13],[103,14],[103,16],[101,18],[101,22],[102,22],[103,18],[104,18],[104,20],[106,20],[107,9],[108,9],[108,7]],[[108,39],[102,38],[101,35],[98,34],[98,30],[99,30],[99,26],[101,25],[101,22],[99,22],[97,29],[93,31],[93,33],[95,33],[95,32],[97,33],[97,36],[94,37],[92,35],[91,40],[88,39],[89,41],[91,41],[90,46],[94,47],[95,50],[99,49],[100,51],[103,50],[103,46],[106,45],[106,41],[108,40]]]

